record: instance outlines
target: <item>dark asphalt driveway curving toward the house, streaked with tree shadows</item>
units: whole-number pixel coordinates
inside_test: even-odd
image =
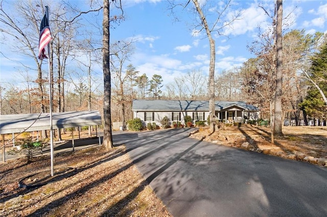
[[[327,168],[194,140],[192,130],[113,136],[174,216],[327,216]]]

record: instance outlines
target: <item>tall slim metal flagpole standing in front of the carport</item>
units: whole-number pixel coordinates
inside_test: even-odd
[[[45,6],[46,9],[46,18],[49,23],[49,7]],[[50,26],[50,24],[49,24]],[[53,127],[52,127],[52,85],[51,85],[51,71],[50,71],[50,43],[48,43],[48,55],[49,55],[49,101],[50,101],[50,149],[51,149],[51,176],[54,176],[53,165],[54,165],[54,148],[53,148]]]

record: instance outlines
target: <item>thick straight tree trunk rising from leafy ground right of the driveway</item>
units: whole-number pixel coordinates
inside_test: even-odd
[[[277,19],[276,19],[276,91],[274,106],[274,135],[283,136],[282,131],[282,88],[283,88],[283,44],[282,44],[282,19],[283,19],[283,0],[277,0]]]

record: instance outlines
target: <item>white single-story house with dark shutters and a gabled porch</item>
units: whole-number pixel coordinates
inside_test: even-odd
[[[215,116],[217,120],[225,123],[241,122],[244,120],[257,120],[259,108],[243,101],[216,101]],[[184,123],[186,115],[191,116],[193,122],[206,121],[209,116],[209,101],[202,100],[145,100],[134,99],[133,117],[140,118],[145,123],[155,122],[167,116],[172,122]]]

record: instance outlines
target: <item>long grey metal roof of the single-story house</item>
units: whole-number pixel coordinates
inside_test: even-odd
[[[259,111],[259,108],[243,101],[216,101],[216,111],[238,106],[246,111]],[[134,99],[134,111],[209,111],[209,102],[202,100],[147,100]]]

